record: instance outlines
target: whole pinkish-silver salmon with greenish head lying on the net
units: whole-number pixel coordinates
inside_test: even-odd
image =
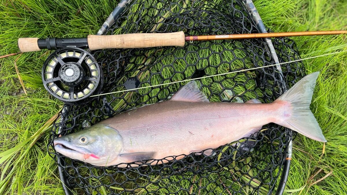
[[[161,164],[204,150],[204,155],[213,155],[211,148],[250,137],[268,123],[326,142],[310,110],[318,75],[305,76],[271,103],[256,99],[210,102],[191,81],[169,100],[128,110],[55,138],[54,149],[95,166],[126,167],[135,161],[154,163],[155,159],[170,158],[157,160]]]

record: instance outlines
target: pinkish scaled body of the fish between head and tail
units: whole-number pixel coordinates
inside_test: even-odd
[[[165,101],[121,113],[103,123],[119,131],[124,152],[154,151],[154,158],[162,159],[237,141],[265,124],[280,123],[287,107],[281,102]]]

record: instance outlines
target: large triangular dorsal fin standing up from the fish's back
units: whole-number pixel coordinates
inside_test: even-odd
[[[182,102],[209,102],[206,95],[199,90],[195,81],[191,81],[184,85],[170,98],[170,100]]]

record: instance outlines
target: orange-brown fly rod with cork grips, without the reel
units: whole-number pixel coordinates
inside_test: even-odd
[[[90,50],[110,48],[143,48],[160,46],[184,46],[186,41],[254,39],[273,37],[296,37],[317,35],[347,34],[347,30],[272,32],[231,35],[185,36],[183,31],[170,33],[135,33],[122,35],[88,35],[87,38],[19,38],[21,52],[34,52],[41,49],[56,50],[65,47],[89,48]]]

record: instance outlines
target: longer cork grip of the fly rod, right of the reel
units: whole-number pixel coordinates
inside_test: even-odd
[[[91,50],[108,48],[142,48],[160,46],[184,46],[184,32],[135,33],[124,35],[88,35]]]

